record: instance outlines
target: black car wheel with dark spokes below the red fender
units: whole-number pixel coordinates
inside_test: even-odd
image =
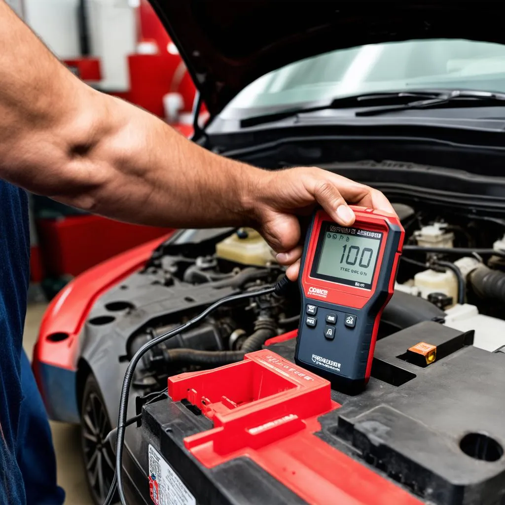
[[[114,478],[114,452],[105,437],[111,431],[105,401],[93,374],[84,385],[81,403],[81,447],[91,498],[103,505]],[[113,503],[119,500],[115,496]]]

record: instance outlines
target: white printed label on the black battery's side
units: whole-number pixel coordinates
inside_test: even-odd
[[[196,505],[195,497],[149,444],[149,491],[155,505]]]

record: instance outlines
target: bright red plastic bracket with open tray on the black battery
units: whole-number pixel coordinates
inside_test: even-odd
[[[168,379],[214,428],[184,439],[207,468],[247,456],[309,503],[419,505],[407,491],[324,442],[318,418],[337,409],[330,383],[263,349],[244,361]]]

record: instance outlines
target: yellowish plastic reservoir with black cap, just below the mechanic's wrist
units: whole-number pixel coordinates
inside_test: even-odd
[[[275,262],[275,254],[265,239],[252,228],[242,228],[216,245],[216,256],[242,265],[264,267]]]

